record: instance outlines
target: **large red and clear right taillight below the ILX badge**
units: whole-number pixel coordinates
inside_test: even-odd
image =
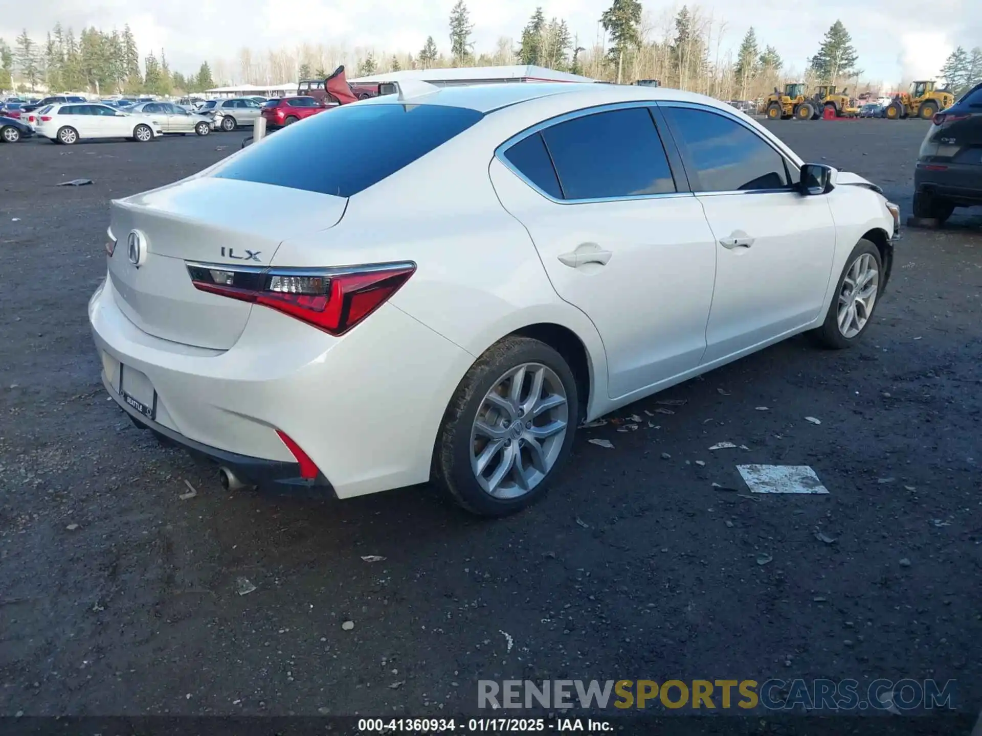
[[[328,269],[188,264],[195,289],[268,306],[335,336],[378,309],[415,270],[409,262]]]

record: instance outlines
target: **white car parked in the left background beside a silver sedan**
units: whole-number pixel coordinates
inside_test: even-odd
[[[86,138],[130,138],[142,143],[163,134],[160,118],[124,112],[97,103],[57,103],[34,113],[35,131],[55,143]]]

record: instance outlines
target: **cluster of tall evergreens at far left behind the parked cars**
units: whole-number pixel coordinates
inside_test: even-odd
[[[43,42],[25,29],[10,46],[0,38],[0,89],[33,90],[43,82],[49,92],[87,90],[95,94],[171,94],[200,91],[215,85],[211,69],[202,62],[196,74],[173,72],[164,50],[142,59],[130,26],[120,32],[72,28],[56,24]],[[19,77],[21,83],[15,85]]]

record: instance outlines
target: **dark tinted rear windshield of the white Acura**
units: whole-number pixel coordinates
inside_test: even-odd
[[[483,117],[444,105],[345,105],[246,148],[213,176],[350,197]]]

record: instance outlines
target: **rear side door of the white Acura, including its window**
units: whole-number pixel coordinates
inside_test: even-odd
[[[698,200],[673,177],[652,112],[599,108],[539,128],[499,149],[492,182],[553,287],[596,325],[608,394],[696,368],[706,347],[714,238]]]

